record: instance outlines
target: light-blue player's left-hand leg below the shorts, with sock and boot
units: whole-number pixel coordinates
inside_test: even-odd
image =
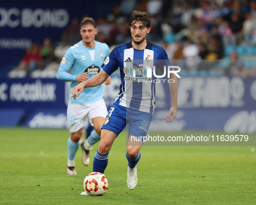
[[[79,147],[79,140],[82,136],[83,128],[75,133],[71,133],[71,137],[68,138],[68,164],[67,164],[67,174],[77,175],[75,170],[75,155]]]

